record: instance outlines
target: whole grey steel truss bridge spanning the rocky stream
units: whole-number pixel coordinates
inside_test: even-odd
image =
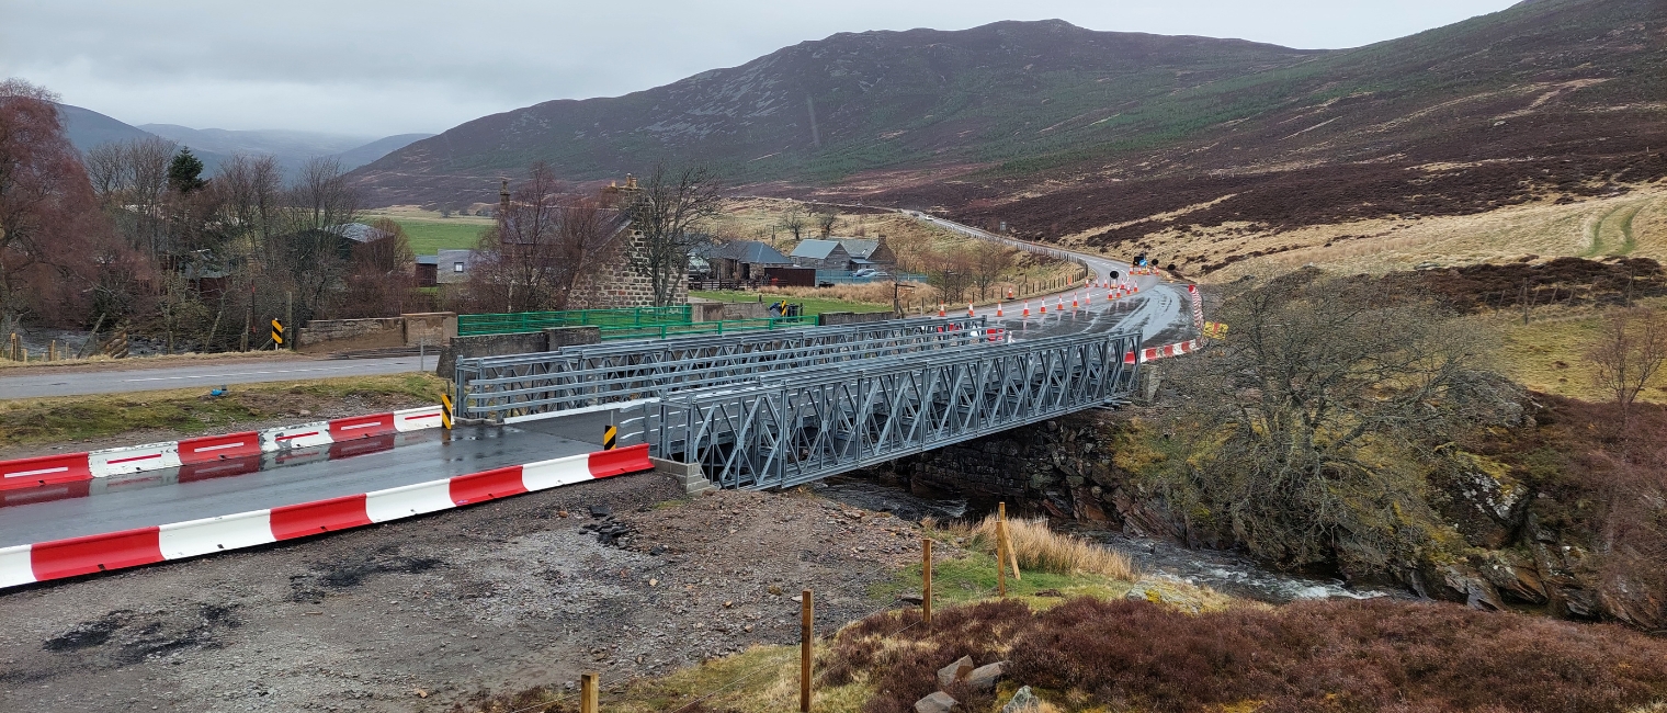
[[[984,318],[570,347],[458,360],[460,415],[620,408],[657,458],[775,488],[1114,403],[1137,333],[1009,340]]]

